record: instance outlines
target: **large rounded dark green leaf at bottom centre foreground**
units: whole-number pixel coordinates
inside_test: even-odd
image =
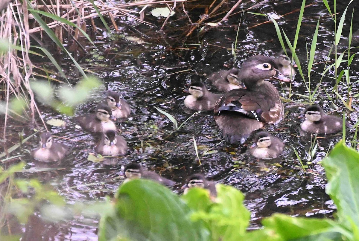
[[[107,240],[208,240],[190,209],[164,186],[137,179],[120,186],[115,212],[103,216],[99,241]]]

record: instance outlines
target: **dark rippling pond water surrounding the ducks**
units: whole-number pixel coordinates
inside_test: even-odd
[[[337,2],[341,2],[337,6],[340,16],[346,3]],[[200,3],[207,7],[211,4],[204,1]],[[196,22],[204,13],[203,8],[199,8],[198,4],[199,1],[187,3],[187,11],[192,22]],[[224,14],[209,18],[206,22],[217,22],[233,4],[234,2],[223,6],[221,12]],[[277,19],[277,22],[292,40],[298,20],[297,10],[301,4],[300,0],[260,1],[255,8],[248,11],[266,13],[273,17],[286,14]],[[322,1],[307,1],[306,4],[310,6],[304,11],[297,46],[297,55],[305,73],[307,71],[306,42],[311,43],[316,22],[321,16],[320,36],[311,75],[313,90],[321,78],[332,45],[334,24]],[[252,1],[243,1],[241,9],[247,9],[252,5]],[[292,11],[295,12],[291,13]],[[352,8],[348,10],[348,18],[351,11]],[[359,29],[359,18],[355,18],[357,13],[358,11],[353,17],[353,32]],[[61,167],[62,170],[36,172],[25,177],[37,177],[45,183],[50,183],[67,203],[74,204],[101,200],[105,195],[112,196],[121,183],[118,177],[121,175],[123,165],[138,161],[148,169],[176,181],[178,185],[175,192],[180,192],[180,186],[192,172],[205,173],[208,178],[218,183],[238,188],[246,195],[245,204],[252,213],[250,228],[257,228],[261,218],[270,216],[274,212],[293,216],[331,217],[335,206],[325,194],[325,171],[320,161],[328,148],[339,141],[340,137],[320,140],[299,137],[298,115],[303,110],[302,105],[286,103],[288,108],[285,109],[284,121],[278,126],[267,127],[268,131],[286,143],[283,156],[272,162],[262,162],[250,157],[246,153],[247,146],[239,147],[223,142],[210,114],[195,115],[179,131],[169,136],[173,130],[171,121],[159,114],[153,106],[172,114],[179,123],[182,123],[191,115],[183,111],[183,99],[186,96],[183,89],[191,80],[200,79],[206,82],[207,76],[212,72],[240,66],[242,60],[252,56],[253,53],[273,56],[281,49],[274,25],[264,23],[267,18],[249,13],[241,15],[239,8],[234,11],[233,16],[230,16],[228,22],[201,33],[196,29],[190,37],[185,37],[185,34],[192,25],[189,24],[188,18],[182,15],[182,10],[177,10],[176,15],[170,18],[164,28],[163,34],[158,32],[158,28],[149,28],[134,23],[128,18],[117,19],[117,24],[121,27],[120,34],[142,36],[146,43],[137,44],[123,38],[111,40],[106,36],[105,38],[100,36],[95,41],[97,49],[90,48],[89,52],[104,58],[91,56],[83,58],[82,66],[99,74],[103,79],[103,86],[93,93],[90,101],[78,107],[76,115],[92,110],[104,99],[106,90],[121,93],[132,106],[131,118],[118,124],[121,135],[128,141],[130,147],[128,155],[119,158],[111,165],[87,161],[88,153],[93,152],[95,138],[75,128],[71,118],[60,115],[67,122],[67,126],[65,128],[49,126],[49,128],[55,136],[71,139],[58,139],[58,141],[74,146],[73,155],[59,164],[51,165],[51,167]],[[164,18],[158,20],[146,15],[145,20],[160,27]],[[236,39],[239,23],[237,62],[233,64],[231,47]],[[264,24],[257,25],[260,23]],[[342,34],[344,37],[341,40],[342,44],[339,44],[338,52],[346,49],[348,42],[346,36],[349,34],[350,22],[345,23]],[[206,27],[208,28],[209,26]],[[353,45],[358,46],[358,42],[353,40]],[[332,54],[330,64],[333,63],[333,58]],[[354,59],[350,71],[351,83],[359,80],[356,74],[359,72],[358,60]],[[335,101],[332,92],[334,81],[328,78],[333,75],[332,68],[324,76],[316,102],[321,104],[325,111],[342,116],[344,105],[340,100]],[[282,91],[278,83],[274,84],[278,86],[281,96],[288,99],[289,86],[283,86]],[[353,85],[351,89],[353,95],[358,93],[358,87],[358,83]],[[328,99],[326,92],[335,105]],[[299,74],[292,81],[291,93],[308,94]],[[339,93],[346,99],[348,86],[341,83]],[[308,101],[295,95],[291,99],[299,103]],[[355,124],[358,121],[358,98],[354,98],[352,104],[355,111],[346,112],[346,115],[350,123]],[[59,117],[52,110],[43,108],[43,111],[45,119]],[[17,132],[21,129],[20,125],[10,124],[9,136],[17,136]],[[348,143],[353,140],[353,135],[354,131],[347,133]],[[192,138],[195,138],[199,148],[200,160],[196,157]],[[13,154],[24,154],[21,160],[28,163],[28,169],[50,167],[34,161],[28,155],[24,149],[36,147],[37,139],[33,138],[29,143],[30,145],[24,146],[22,151],[18,150]],[[316,144],[318,144],[316,152],[311,155],[311,146]],[[299,167],[300,163],[293,148],[299,153],[303,164],[308,165],[307,172]],[[34,240],[34,237],[39,236],[49,240],[97,240],[95,233],[97,224],[96,218],[77,217],[66,223],[50,225],[33,217],[23,229],[24,240]]]

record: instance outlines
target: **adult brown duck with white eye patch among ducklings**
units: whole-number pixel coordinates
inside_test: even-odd
[[[280,121],[283,104],[278,91],[264,80],[274,77],[290,81],[279,72],[273,58],[262,55],[247,58],[240,75],[247,89],[228,91],[214,106],[215,122],[230,143],[244,143],[252,131],[262,128],[265,123]]]

